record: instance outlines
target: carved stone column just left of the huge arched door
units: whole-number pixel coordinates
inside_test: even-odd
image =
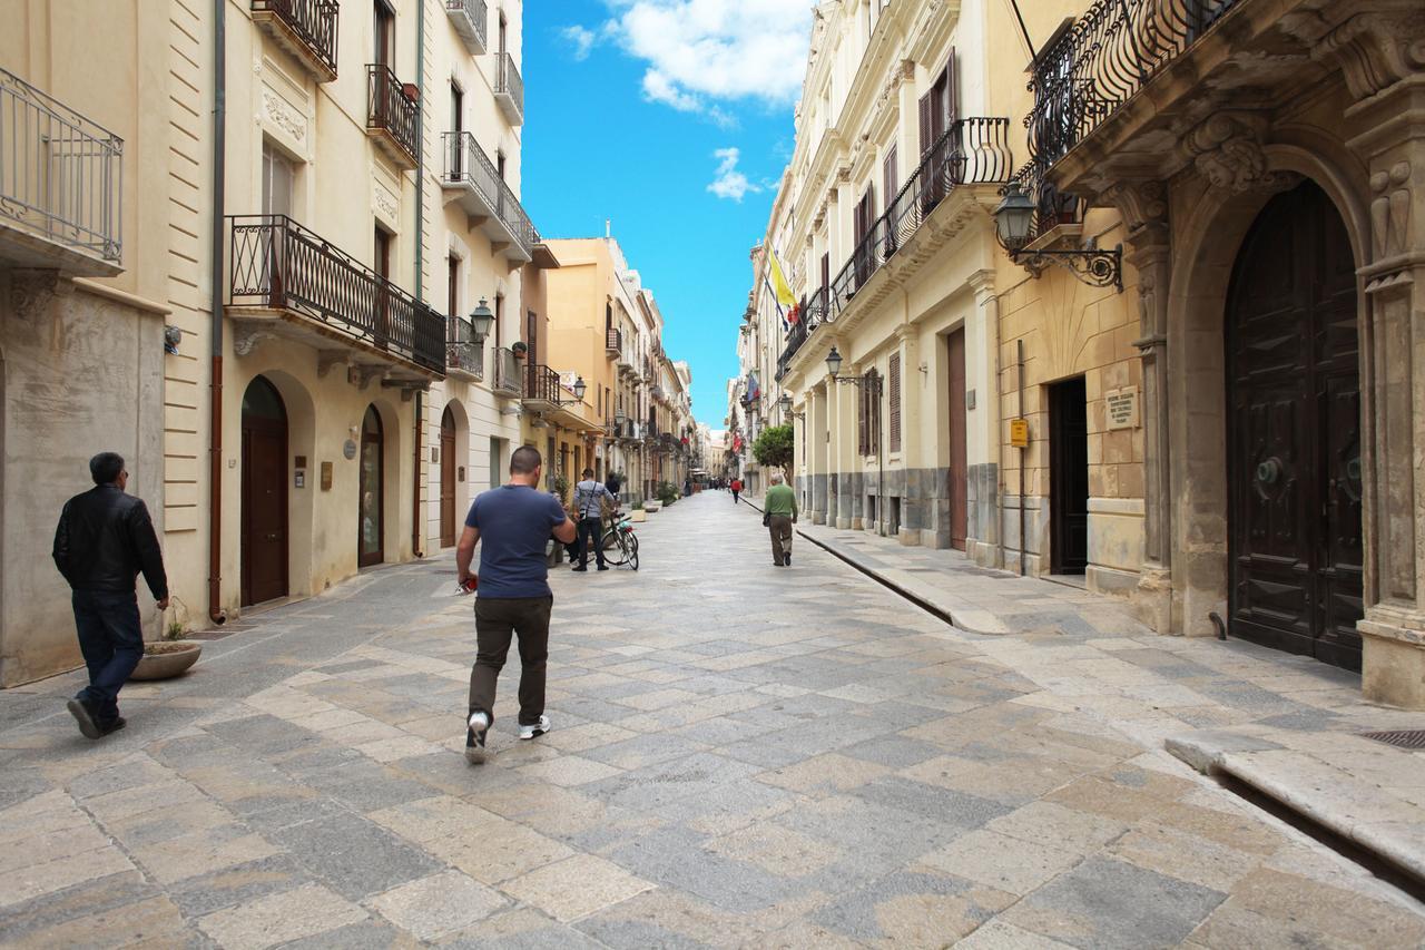
[[[1168,499],[1167,302],[1173,244],[1167,188],[1129,183],[1107,195],[1127,230],[1124,262],[1139,275],[1139,338],[1143,362],[1143,568],[1134,602],[1159,633],[1173,626],[1173,508]]]

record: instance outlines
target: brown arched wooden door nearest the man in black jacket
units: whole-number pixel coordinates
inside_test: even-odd
[[[242,606],[288,595],[286,407],[255,377],[242,394]]]

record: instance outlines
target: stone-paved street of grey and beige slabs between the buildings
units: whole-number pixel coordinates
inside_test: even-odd
[[[512,656],[484,766],[460,755],[452,553],[245,619],[125,689],[98,743],[64,712],[77,675],[0,693],[0,943],[1425,941],[1421,904],[1163,750],[1164,719],[1218,703],[1311,715],[1234,662],[1318,678],[1302,693],[1354,689],[1340,672],[966,633],[804,541],[774,568],[720,492],[638,529],[637,573],[553,572],[553,732],[516,740]],[[1112,703],[1076,668],[1104,652]]]

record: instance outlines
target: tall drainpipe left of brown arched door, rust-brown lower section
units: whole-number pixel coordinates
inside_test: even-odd
[[[208,381],[208,619],[227,622],[222,611],[222,224],[227,187],[228,57],[227,0],[212,0],[212,317]]]

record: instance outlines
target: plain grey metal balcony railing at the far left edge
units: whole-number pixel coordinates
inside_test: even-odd
[[[0,70],[0,220],[118,264],[124,141]]]

